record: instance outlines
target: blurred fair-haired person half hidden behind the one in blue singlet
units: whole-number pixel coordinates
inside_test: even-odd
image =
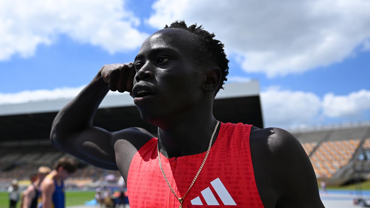
[[[38,168],[36,181],[31,183],[26,190],[23,191],[22,206],[21,208],[36,208],[38,198],[40,196],[40,185],[46,175],[51,172],[51,169],[46,166]]]

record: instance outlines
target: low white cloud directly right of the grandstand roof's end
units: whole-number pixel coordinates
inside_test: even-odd
[[[320,98],[313,93],[271,87],[260,96],[266,127],[312,123],[320,112]]]

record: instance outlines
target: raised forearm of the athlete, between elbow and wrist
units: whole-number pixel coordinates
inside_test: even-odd
[[[57,138],[91,127],[99,104],[108,91],[108,83],[105,83],[101,74],[98,73],[73,100],[59,111],[51,128],[51,140],[55,141]]]

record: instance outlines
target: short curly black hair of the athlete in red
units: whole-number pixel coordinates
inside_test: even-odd
[[[186,26],[185,21],[176,20],[171,23],[170,26],[166,25],[164,29],[166,28],[184,29],[194,34],[198,37],[198,41],[201,44],[198,50],[198,54],[200,55],[198,57],[201,57],[201,60],[198,59],[197,62],[207,64],[209,66],[216,66],[221,69],[221,81],[213,95],[213,97],[215,97],[218,91],[223,89],[223,84],[228,80],[226,76],[229,74],[229,60],[226,58],[225,51],[223,50],[223,43],[219,40],[213,39],[213,37],[215,37],[214,33],[209,33],[203,29],[202,25],[197,26],[196,23],[188,27]]]

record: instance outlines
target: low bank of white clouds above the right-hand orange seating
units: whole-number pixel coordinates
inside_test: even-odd
[[[348,95],[327,93],[322,99],[303,91],[280,90],[270,87],[261,93],[263,119],[266,127],[317,125],[328,118],[339,121],[369,120],[370,90]]]

